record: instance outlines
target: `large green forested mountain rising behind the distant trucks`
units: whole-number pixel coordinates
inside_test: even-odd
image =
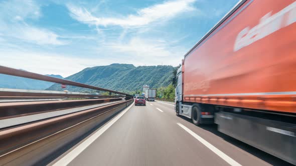
[[[167,86],[172,82],[174,67],[171,65],[137,66],[132,64],[110,64],[85,68],[65,79],[86,83],[112,90],[128,92],[141,90],[144,84],[151,88]],[[67,86],[69,91],[87,91],[90,89]],[[47,90],[65,90],[60,84],[54,84]]]

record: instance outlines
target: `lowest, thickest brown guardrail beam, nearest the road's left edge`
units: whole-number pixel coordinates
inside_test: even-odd
[[[0,163],[46,164],[132,102],[130,99],[0,130]]]

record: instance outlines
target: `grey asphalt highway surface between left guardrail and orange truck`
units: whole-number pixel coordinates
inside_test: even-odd
[[[171,102],[125,109],[50,165],[291,165],[178,117]]]

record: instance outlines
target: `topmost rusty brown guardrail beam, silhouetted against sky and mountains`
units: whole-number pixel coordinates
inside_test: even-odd
[[[123,93],[120,91],[115,91],[115,90],[110,90],[106,88],[101,88],[97,86],[92,86],[84,83],[79,83],[75,81],[70,81],[66,79],[60,79],[52,76],[46,76],[34,72],[29,72],[29,71],[24,71],[20,69],[15,69],[11,67],[5,67],[0,65],[0,73],[2,74],[8,74],[8,75],[14,75],[14,76],[21,76],[21,77],[26,77],[26,78],[31,78],[31,79],[38,79],[38,80],[44,80],[44,81],[49,81],[49,82],[55,82],[55,83],[61,83],[61,84],[68,84],[68,85],[73,85],[73,86],[79,86],[79,87],[85,87],[85,88],[90,88],[90,89],[96,89],[96,90],[103,90],[103,91],[109,91],[109,92],[114,92],[117,94],[123,94],[126,96],[130,96],[130,94]]]

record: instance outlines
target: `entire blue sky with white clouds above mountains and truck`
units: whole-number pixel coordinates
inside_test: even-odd
[[[0,65],[69,76],[178,65],[238,0],[0,0]]]

